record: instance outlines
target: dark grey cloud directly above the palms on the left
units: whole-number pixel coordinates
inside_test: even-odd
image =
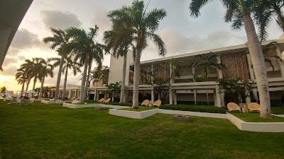
[[[41,11],[41,14],[43,16],[43,23],[45,24],[46,28],[80,28],[82,25],[82,22],[74,13],[63,13],[61,11]]]

